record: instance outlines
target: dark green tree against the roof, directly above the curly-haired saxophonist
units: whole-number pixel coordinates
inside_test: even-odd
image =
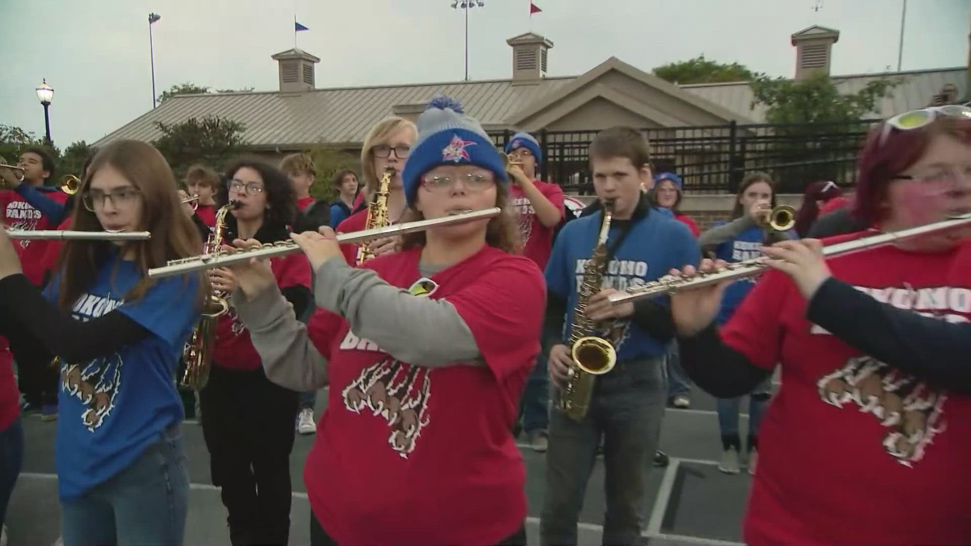
[[[162,132],[152,145],[168,160],[176,176],[182,178],[190,165],[203,163],[221,169],[226,160],[244,146],[246,125],[232,119],[206,116],[181,123],[155,121]]]

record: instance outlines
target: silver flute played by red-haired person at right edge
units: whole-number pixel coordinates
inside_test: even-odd
[[[884,247],[903,239],[913,239],[923,235],[933,235],[944,231],[950,231],[959,227],[971,226],[971,213],[955,216],[949,220],[941,222],[927,223],[917,227],[908,227],[898,231],[887,233],[877,233],[823,247],[822,255],[825,257],[846,256],[861,251],[867,251],[878,247]],[[673,294],[680,291],[695,290],[709,285],[714,285],[722,281],[732,281],[754,277],[769,268],[761,262],[762,258],[748,259],[729,263],[718,271],[710,273],[697,273],[691,277],[674,277],[665,275],[639,287],[622,290],[608,296],[611,303],[619,304],[626,301],[641,299],[642,297],[653,297],[663,294]]]

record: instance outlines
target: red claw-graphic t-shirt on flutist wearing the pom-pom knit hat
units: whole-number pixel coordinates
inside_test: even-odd
[[[420,249],[365,267],[391,286],[421,277]],[[331,395],[304,481],[341,544],[495,544],[526,517],[513,435],[539,354],[546,288],[534,262],[492,247],[431,277],[468,324],[485,366],[414,366],[318,310],[308,332],[328,359]],[[443,340],[448,342],[448,340]]]

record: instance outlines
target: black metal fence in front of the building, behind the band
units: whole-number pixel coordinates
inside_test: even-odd
[[[654,172],[675,172],[687,191],[734,193],[745,176],[767,172],[781,193],[802,193],[818,180],[842,187],[855,182],[856,155],[879,119],[839,124],[727,125],[643,129],[651,142]],[[493,132],[505,147],[512,131]],[[597,131],[534,134],[543,150],[543,178],[568,191],[592,192],[587,150]]]

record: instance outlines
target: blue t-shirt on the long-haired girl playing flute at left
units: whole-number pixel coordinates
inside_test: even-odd
[[[179,358],[199,318],[199,276],[159,279],[144,297],[123,301],[142,275],[134,262],[106,260],[78,299],[73,317],[88,321],[113,310],[151,332],[137,343],[87,362],[61,362],[54,444],[61,498],[88,492],[128,467],[166,427],[184,419],[176,390]],[[45,290],[56,301],[59,279]]]

